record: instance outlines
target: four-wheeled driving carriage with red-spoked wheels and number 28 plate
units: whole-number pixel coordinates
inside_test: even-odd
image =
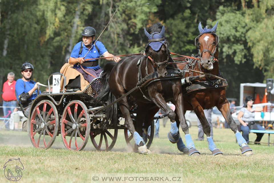
[[[51,77],[54,87],[57,87],[57,90],[59,88],[59,91],[59,79],[64,78],[61,92],[51,92],[49,87]],[[83,150],[90,138],[97,150],[109,151],[116,142],[118,129],[121,129],[124,130],[128,146],[134,148],[133,135],[125,128],[121,115],[117,124],[106,121],[104,110],[94,115],[95,111],[104,107],[103,103],[95,104],[94,102],[101,89],[100,77],[95,78],[83,91],[80,91],[78,86],[80,81],[77,78],[68,85],[65,85],[65,78],[61,73],[51,74],[47,86],[49,92],[39,94],[31,104],[27,131],[33,146],[50,148],[56,136],[61,135],[63,144],[68,150]],[[134,111],[137,106],[134,102],[131,105],[131,117],[134,120]],[[161,117],[155,117],[155,119],[159,118]],[[153,120],[152,124],[150,136],[148,136],[148,147],[154,137]]]

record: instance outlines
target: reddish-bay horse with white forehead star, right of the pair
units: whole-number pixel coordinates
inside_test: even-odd
[[[178,64],[179,69],[192,69],[222,77],[219,71],[219,38],[216,34],[217,23],[212,29],[208,29],[207,26],[203,29],[201,22],[199,23],[198,29],[200,35],[196,37],[195,45],[199,50],[200,60],[197,61],[192,59],[187,64]],[[185,72],[184,78],[197,75],[199,75],[199,73]],[[237,124],[231,117],[229,103],[225,97],[226,86],[227,82],[222,82],[221,80],[215,79],[213,77],[206,77],[192,82],[192,85],[185,87],[186,90],[189,89],[190,91],[184,92],[184,113],[186,110],[194,110],[199,120],[201,121],[204,133],[207,136],[208,148],[212,152],[212,155],[223,154],[220,150],[217,149],[212,140],[212,137],[210,136],[210,126],[203,111],[204,109],[210,109],[214,106],[217,106],[218,110],[222,113],[223,117],[228,122],[231,130],[235,133],[238,144],[241,147],[242,155],[252,155],[253,153],[251,148],[249,148],[247,145],[243,136],[238,131]],[[192,92],[191,87],[194,89]],[[178,121],[178,118],[176,118],[176,121]],[[179,123],[177,125],[179,126]],[[186,146],[190,148],[188,142],[186,143]],[[184,143],[182,142],[181,138],[179,139],[179,142],[177,142],[177,146],[178,149],[182,151],[181,146],[184,147]]]

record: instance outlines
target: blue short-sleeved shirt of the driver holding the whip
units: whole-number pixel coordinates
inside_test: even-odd
[[[82,41],[81,41],[82,42]],[[79,58],[79,57],[84,57],[86,55],[86,53],[88,52],[88,49],[86,48],[86,46],[83,44],[83,49],[82,49],[82,53],[80,53],[79,55],[79,51],[80,51],[80,47],[81,47],[81,42],[77,43],[74,48],[72,49],[72,52],[70,54],[70,57],[72,58]],[[100,55],[103,55],[106,51],[108,51],[105,46],[103,45],[102,42],[100,41],[96,41],[96,46],[99,49],[99,53],[95,47],[95,45],[92,47],[92,49],[88,52],[88,54],[86,55],[86,57],[84,59],[92,59],[92,58],[99,58]],[[95,60],[94,60],[95,61]],[[73,65],[73,68],[79,68],[80,66],[78,66],[77,64]],[[84,68],[90,68],[90,69],[94,69],[94,70],[98,70],[100,69],[100,66],[95,66],[95,67],[85,67],[82,66]]]

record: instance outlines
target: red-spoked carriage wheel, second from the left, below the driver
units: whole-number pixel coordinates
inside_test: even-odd
[[[61,121],[61,136],[68,150],[80,151],[88,142],[90,133],[90,118],[86,105],[73,100],[66,106]],[[72,142],[74,141],[74,142]]]

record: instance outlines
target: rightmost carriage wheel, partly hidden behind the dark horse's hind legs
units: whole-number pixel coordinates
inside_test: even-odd
[[[151,126],[150,126],[150,135],[148,135],[148,142],[146,142],[147,148],[150,148],[153,138],[154,138],[154,120],[151,121]],[[127,128],[124,129],[124,135],[126,139],[126,144],[128,144],[128,147],[133,149],[134,151],[138,151],[136,144],[133,139],[133,135],[128,131]],[[141,134],[140,134],[141,135]]]

